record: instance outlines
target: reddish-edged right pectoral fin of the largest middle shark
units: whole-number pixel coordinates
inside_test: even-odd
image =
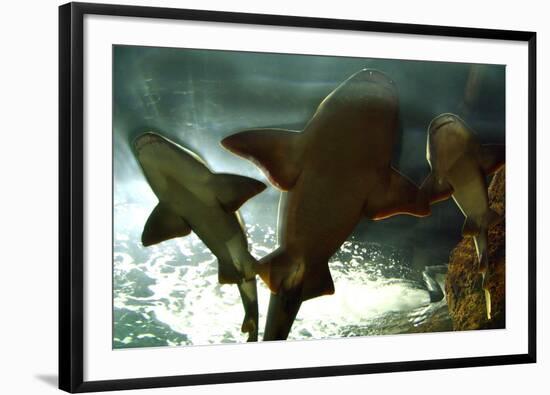
[[[428,199],[423,199],[420,189],[411,180],[393,168],[389,175],[386,190],[377,191],[367,202],[370,218],[381,220],[398,214],[416,217],[430,215]]]

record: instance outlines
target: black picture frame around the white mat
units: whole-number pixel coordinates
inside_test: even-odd
[[[472,358],[84,381],[83,18],[86,14],[527,42],[529,70],[528,352],[516,355]],[[535,163],[535,32],[107,4],[69,3],[62,5],[59,8],[59,388],[73,393],[534,363],[536,361]]]

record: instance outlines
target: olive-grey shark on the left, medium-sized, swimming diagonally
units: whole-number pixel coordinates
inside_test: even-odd
[[[134,140],[135,155],[159,199],[145,223],[144,246],[194,231],[218,258],[221,284],[237,284],[248,341],[258,338],[256,260],[237,212],[265,189],[265,184],[234,174],[213,173],[195,153],[159,134],[147,132]]]

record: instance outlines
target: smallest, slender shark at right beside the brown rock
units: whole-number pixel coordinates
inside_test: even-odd
[[[504,165],[504,145],[481,145],[472,129],[455,114],[441,114],[428,127],[426,159],[431,173],[422,183],[422,192],[432,203],[450,196],[466,220],[464,236],[472,236],[485,291],[487,318],[491,318],[491,295],[485,286],[489,264],[488,228],[499,219],[489,208],[487,176]]]

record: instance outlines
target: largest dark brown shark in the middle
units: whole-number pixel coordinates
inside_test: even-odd
[[[429,214],[416,185],[390,163],[398,107],[394,82],[363,69],[321,102],[302,132],[253,129],[222,141],[287,191],[279,247],[258,265],[271,290],[264,340],[286,339],[303,301],[334,293],[328,260],[361,218]]]

